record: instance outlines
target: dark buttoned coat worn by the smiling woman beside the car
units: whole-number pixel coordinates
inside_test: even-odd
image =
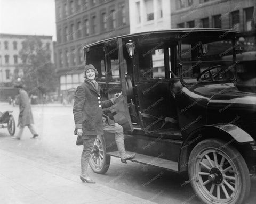
[[[98,90],[87,80],[77,87],[73,114],[75,120],[75,135],[77,129],[83,129],[83,139],[88,135],[103,135],[102,108],[113,105],[113,100],[102,101]]]

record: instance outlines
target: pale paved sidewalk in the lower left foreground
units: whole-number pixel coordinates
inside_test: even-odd
[[[0,203],[154,204],[99,183],[82,183],[78,175],[64,177],[55,172],[50,165],[0,149]]]

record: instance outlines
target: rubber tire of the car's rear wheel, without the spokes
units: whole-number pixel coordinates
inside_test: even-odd
[[[103,167],[95,168],[94,165],[92,164],[91,157],[89,158],[89,165],[93,172],[95,172],[97,174],[105,174],[109,169],[111,156],[107,155],[107,153],[106,153],[105,140],[103,140],[102,135],[97,135],[97,138],[100,140],[100,142],[102,143],[102,146],[103,146]]]

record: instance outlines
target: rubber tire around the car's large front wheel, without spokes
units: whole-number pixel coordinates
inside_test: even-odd
[[[197,197],[201,199],[204,203],[207,204],[219,204],[220,202],[214,202],[207,200],[199,191],[199,189],[196,186],[196,180],[194,177],[194,168],[193,165],[196,164],[195,158],[198,156],[199,152],[201,152],[205,148],[219,148],[219,147],[225,147],[223,145],[226,145],[227,142],[219,139],[206,139],[201,142],[199,142],[195,148],[191,151],[191,154],[189,156],[189,162],[188,162],[188,174],[189,174],[189,180],[191,182],[192,188],[194,192],[197,194]],[[223,151],[223,149],[225,151]],[[239,186],[239,193],[236,194],[236,197],[226,202],[225,204],[242,204],[245,202],[247,197],[250,193],[251,188],[251,180],[250,180],[250,174],[249,170],[247,168],[247,165],[245,163],[244,158],[242,155],[238,152],[236,148],[234,148],[231,145],[226,146],[225,148],[221,149],[220,151],[225,152],[230,158],[234,158],[233,162],[238,169],[239,177],[241,179],[241,186]]]

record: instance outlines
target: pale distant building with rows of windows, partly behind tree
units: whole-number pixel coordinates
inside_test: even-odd
[[[2,86],[12,86],[13,80],[22,77],[23,71],[19,67],[22,61],[19,52],[23,42],[29,37],[38,37],[43,46],[51,50],[51,62],[54,62],[52,36],[0,34],[0,83]]]

